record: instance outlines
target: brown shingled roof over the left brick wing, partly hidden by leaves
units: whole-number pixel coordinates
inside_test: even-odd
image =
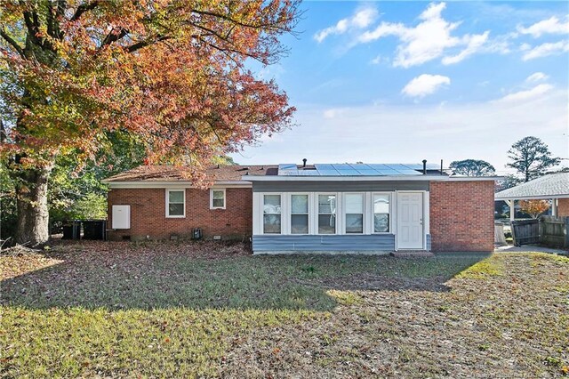
[[[276,165],[216,165],[205,170],[210,181],[241,181],[243,175],[276,175]],[[140,165],[118,173],[105,182],[121,181],[191,181],[188,167],[174,165]]]

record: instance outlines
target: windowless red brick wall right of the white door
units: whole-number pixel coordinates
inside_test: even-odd
[[[432,181],[433,251],[493,251],[493,181]]]

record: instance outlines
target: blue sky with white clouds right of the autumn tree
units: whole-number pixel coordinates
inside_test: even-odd
[[[296,125],[237,163],[477,158],[507,173],[507,150],[527,135],[569,158],[569,3],[301,7],[289,55],[255,68],[288,93]]]

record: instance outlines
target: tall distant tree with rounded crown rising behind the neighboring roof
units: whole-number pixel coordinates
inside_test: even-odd
[[[544,175],[549,168],[561,162],[558,157],[551,157],[548,145],[531,136],[514,143],[508,150],[508,157],[511,162],[507,165],[521,173],[524,181]]]

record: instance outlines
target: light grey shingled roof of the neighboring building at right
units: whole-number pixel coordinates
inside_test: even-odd
[[[496,200],[569,198],[569,173],[549,173],[533,181],[504,189],[494,195]]]

